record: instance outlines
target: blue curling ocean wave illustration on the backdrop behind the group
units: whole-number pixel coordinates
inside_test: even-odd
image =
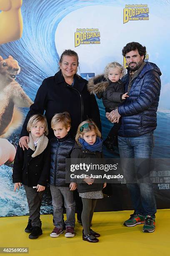
[[[148,0],[149,2],[150,0]],[[134,1],[134,3],[136,2]],[[157,4],[159,5],[159,2]],[[90,5],[122,6],[122,1],[23,0],[21,8],[23,36],[18,41],[1,45],[0,55],[4,59],[12,55],[14,59],[18,60],[21,72],[17,81],[32,100],[34,100],[42,80],[54,75],[57,71],[59,56],[55,48],[55,31],[58,24],[68,13]],[[102,102],[100,100],[97,100],[97,102],[100,107],[103,138],[106,138],[112,124],[105,118]],[[28,108],[22,111],[26,115]],[[158,113],[158,128],[155,131],[155,144],[157,146],[155,147],[154,156],[170,156],[170,132],[168,127],[170,127],[170,114]],[[15,141],[15,143],[18,141],[20,129],[21,127],[8,138],[9,141]],[[106,149],[104,149],[104,154],[107,157],[117,157],[117,154],[111,154]],[[51,206],[47,202],[48,200],[44,200],[42,213],[51,213]],[[0,207],[0,216],[28,214],[25,191],[20,189],[18,193],[13,192],[12,169],[5,165],[0,166]]]

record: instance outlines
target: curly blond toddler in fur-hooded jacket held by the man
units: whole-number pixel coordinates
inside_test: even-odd
[[[106,113],[118,108],[126,97],[129,97],[127,93],[124,94],[124,84],[120,80],[122,73],[122,65],[112,62],[107,64],[104,74],[90,79],[88,83],[88,91],[91,94],[96,94],[98,99],[102,98]],[[103,142],[111,151],[114,151],[113,146],[117,146],[117,131],[119,128],[120,122],[115,123],[107,139]]]

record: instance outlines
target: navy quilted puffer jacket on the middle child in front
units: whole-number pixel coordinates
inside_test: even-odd
[[[69,135],[64,138],[52,138],[51,147],[51,167],[50,185],[68,187],[70,183],[65,183],[65,159],[70,158],[75,141]]]

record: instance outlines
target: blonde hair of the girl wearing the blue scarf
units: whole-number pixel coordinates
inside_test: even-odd
[[[87,125],[85,125],[87,124]],[[83,127],[85,125],[85,127]],[[95,131],[95,134],[97,137],[101,138],[101,133],[97,127],[97,125],[95,124],[95,122],[93,122],[92,120],[85,120],[82,123],[80,123],[80,125],[77,128],[77,134],[75,136],[75,141],[77,142],[77,144],[79,146],[81,146],[80,142],[78,141],[78,139],[81,137],[81,135],[83,136],[85,133],[89,132],[89,131]]]

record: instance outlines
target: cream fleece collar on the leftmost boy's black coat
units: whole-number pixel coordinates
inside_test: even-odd
[[[35,148],[31,133],[29,134],[28,146],[32,151],[34,151],[34,153],[32,154],[32,157],[40,155],[47,147],[47,144],[48,144],[48,138],[44,136],[44,134],[42,134],[42,136],[40,136],[39,140],[37,141],[37,147]]]

